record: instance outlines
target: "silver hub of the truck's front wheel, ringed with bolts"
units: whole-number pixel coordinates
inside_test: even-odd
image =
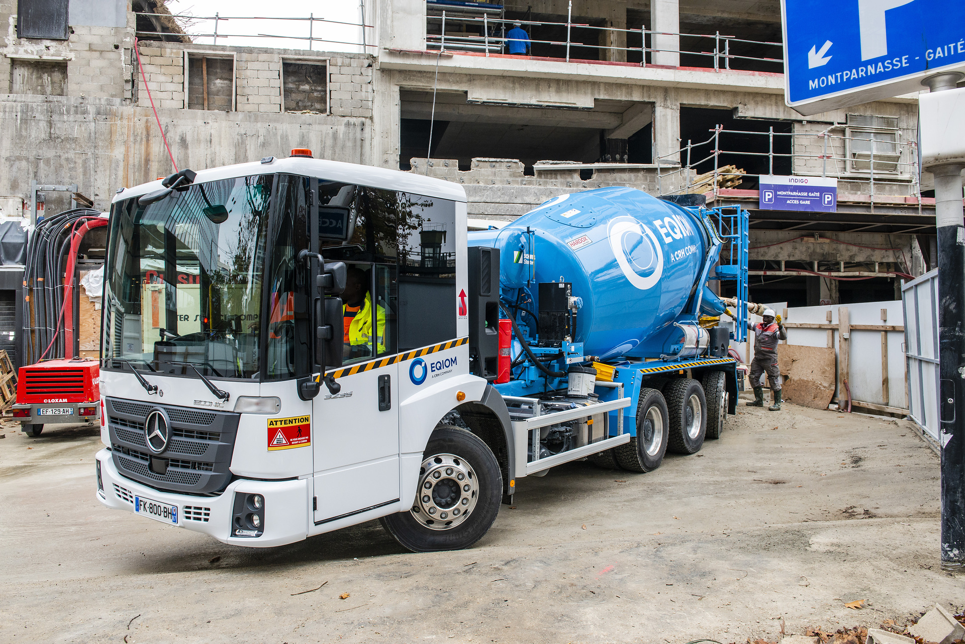
[[[475,510],[478,499],[472,466],[453,454],[437,454],[419,470],[419,494],[410,512],[427,528],[450,530]]]

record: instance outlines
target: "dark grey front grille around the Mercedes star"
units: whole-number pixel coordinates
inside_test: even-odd
[[[238,414],[113,398],[105,403],[114,462],[125,477],[159,490],[188,494],[216,492],[228,485]],[[162,407],[171,419],[171,439],[159,455],[149,453],[144,435],[145,419],[155,407]],[[152,459],[165,461],[166,471],[156,462],[152,467]]]

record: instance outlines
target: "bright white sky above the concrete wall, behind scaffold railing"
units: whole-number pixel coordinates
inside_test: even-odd
[[[372,24],[369,7],[374,0],[365,0],[366,23]],[[169,0],[168,9],[172,14],[191,14],[195,16],[213,16],[218,14],[218,44],[234,44],[238,46],[283,47],[287,49],[315,49],[323,51],[362,51],[362,28],[345,24],[331,24],[318,21],[317,18],[351,22],[356,25],[361,22],[361,8],[359,0]],[[326,41],[341,42],[313,42],[309,47],[309,14],[316,18],[312,27],[314,38]],[[234,19],[222,20],[221,16]],[[258,16],[264,19],[240,19],[242,16]],[[281,20],[272,18],[299,17],[304,20]],[[366,38],[372,44],[374,38],[372,29],[366,30]],[[212,34],[214,20],[197,20],[187,28],[190,34]],[[233,36],[237,35],[237,36]],[[259,34],[269,36],[297,36],[306,40],[290,38],[263,38]],[[222,38],[222,35],[227,38]],[[247,36],[248,38],[245,38]],[[210,36],[195,39],[199,44],[210,44],[214,40]],[[345,44],[345,43],[348,44]],[[358,44],[354,44],[358,43]],[[369,47],[373,52],[374,48]]]

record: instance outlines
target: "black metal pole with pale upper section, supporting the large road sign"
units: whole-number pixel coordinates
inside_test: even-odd
[[[954,89],[960,73],[925,79],[932,92]],[[965,217],[962,165],[927,168],[935,178],[938,228],[939,420],[942,457],[942,567],[965,571]]]

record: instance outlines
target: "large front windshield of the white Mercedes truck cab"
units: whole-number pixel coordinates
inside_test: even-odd
[[[273,175],[196,183],[111,211],[103,355],[137,369],[258,378]],[[109,362],[105,366],[111,365]]]

